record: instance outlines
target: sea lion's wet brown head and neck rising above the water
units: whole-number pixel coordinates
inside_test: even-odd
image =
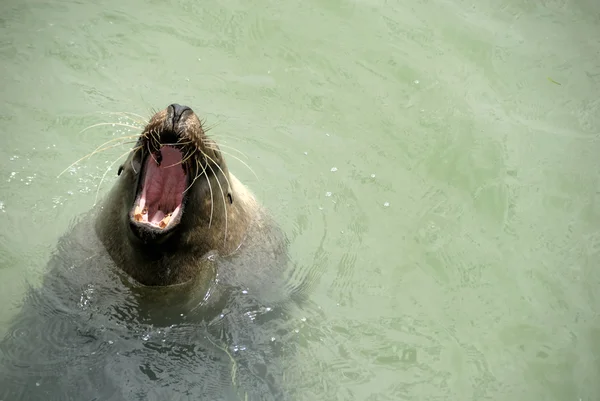
[[[192,109],[172,104],[156,113],[134,149],[119,167],[96,231],[115,264],[135,280],[187,282],[209,251],[279,251],[281,244],[263,235],[273,222],[229,172]]]

